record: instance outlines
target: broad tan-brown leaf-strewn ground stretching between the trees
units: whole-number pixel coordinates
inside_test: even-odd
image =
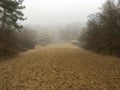
[[[0,64],[0,90],[120,90],[120,60],[72,44],[37,46]]]

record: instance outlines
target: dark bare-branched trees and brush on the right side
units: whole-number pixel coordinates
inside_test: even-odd
[[[79,41],[86,49],[120,55],[120,1],[107,0],[90,15]]]

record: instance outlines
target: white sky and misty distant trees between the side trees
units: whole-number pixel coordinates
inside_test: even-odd
[[[23,12],[27,20],[22,24],[37,30],[37,42],[40,37],[44,37],[43,33],[47,33],[54,43],[69,42],[79,37],[88,15],[99,11],[104,2],[105,0],[25,0],[23,4],[26,8]]]

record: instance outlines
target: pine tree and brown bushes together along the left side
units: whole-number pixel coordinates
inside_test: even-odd
[[[12,55],[35,46],[35,31],[23,28],[23,0],[0,1],[0,56]]]

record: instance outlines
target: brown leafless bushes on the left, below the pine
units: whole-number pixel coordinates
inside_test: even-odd
[[[36,33],[29,28],[23,28],[21,32],[0,32],[0,55],[13,55],[20,51],[34,48]]]

